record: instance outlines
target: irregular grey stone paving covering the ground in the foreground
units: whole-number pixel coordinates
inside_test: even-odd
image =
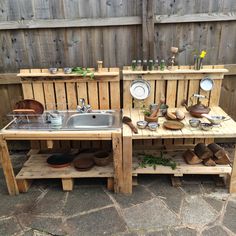
[[[25,155],[14,155],[19,170]],[[186,176],[171,186],[165,175],[138,178],[131,196],[114,194],[105,180],[77,180],[62,192],[60,181],[35,181],[28,193],[10,197],[0,169],[0,236],[236,235],[236,195],[211,176]]]

